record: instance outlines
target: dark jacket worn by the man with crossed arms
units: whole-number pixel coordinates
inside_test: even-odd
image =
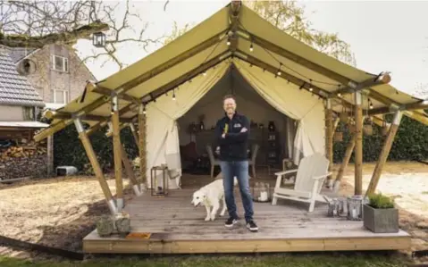
[[[240,132],[242,128],[247,128],[246,132]],[[225,138],[222,133],[226,132]],[[217,121],[215,126],[215,139],[220,146],[220,160],[245,161],[248,160],[248,136],[249,121],[248,118],[239,113],[235,113],[231,119],[227,115]]]

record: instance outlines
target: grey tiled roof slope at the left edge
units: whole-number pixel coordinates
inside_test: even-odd
[[[0,46],[0,104],[45,106],[25,76],[16,70],[11,56]]]

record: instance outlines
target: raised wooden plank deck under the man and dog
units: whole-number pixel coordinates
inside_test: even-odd
[[[156,198],[147,194],[132,199],[125,207],[130,213],[132,232],[151,233],[150,238],[99,238],[97,230],[83,239],[87,253],[111,254],[200,254],[290,251],[399,250],[410,247],[410,236],[374,234],[362,221],[329,218],[327,206],[316,204],[307,213],[306,204],[279,200],[278,205],[255,203],[256,233],[245,228],[239,193],[236,201],[240,225],[225,229],[226,218],[204,221],[205,207],[190,204],[194,189],[170,191]],[[226,213],[227,215],[227,213]]]

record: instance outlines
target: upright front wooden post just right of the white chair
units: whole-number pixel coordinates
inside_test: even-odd
[[[361,92],[355,92],[355,195],[363,194],[363,108]]]

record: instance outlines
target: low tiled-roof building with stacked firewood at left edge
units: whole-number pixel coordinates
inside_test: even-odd
[[[31,145],[35,131],[49,126],[37,121],[45,104],[8,49],[0,46],[0,179],[46,175],[46,153]]]

